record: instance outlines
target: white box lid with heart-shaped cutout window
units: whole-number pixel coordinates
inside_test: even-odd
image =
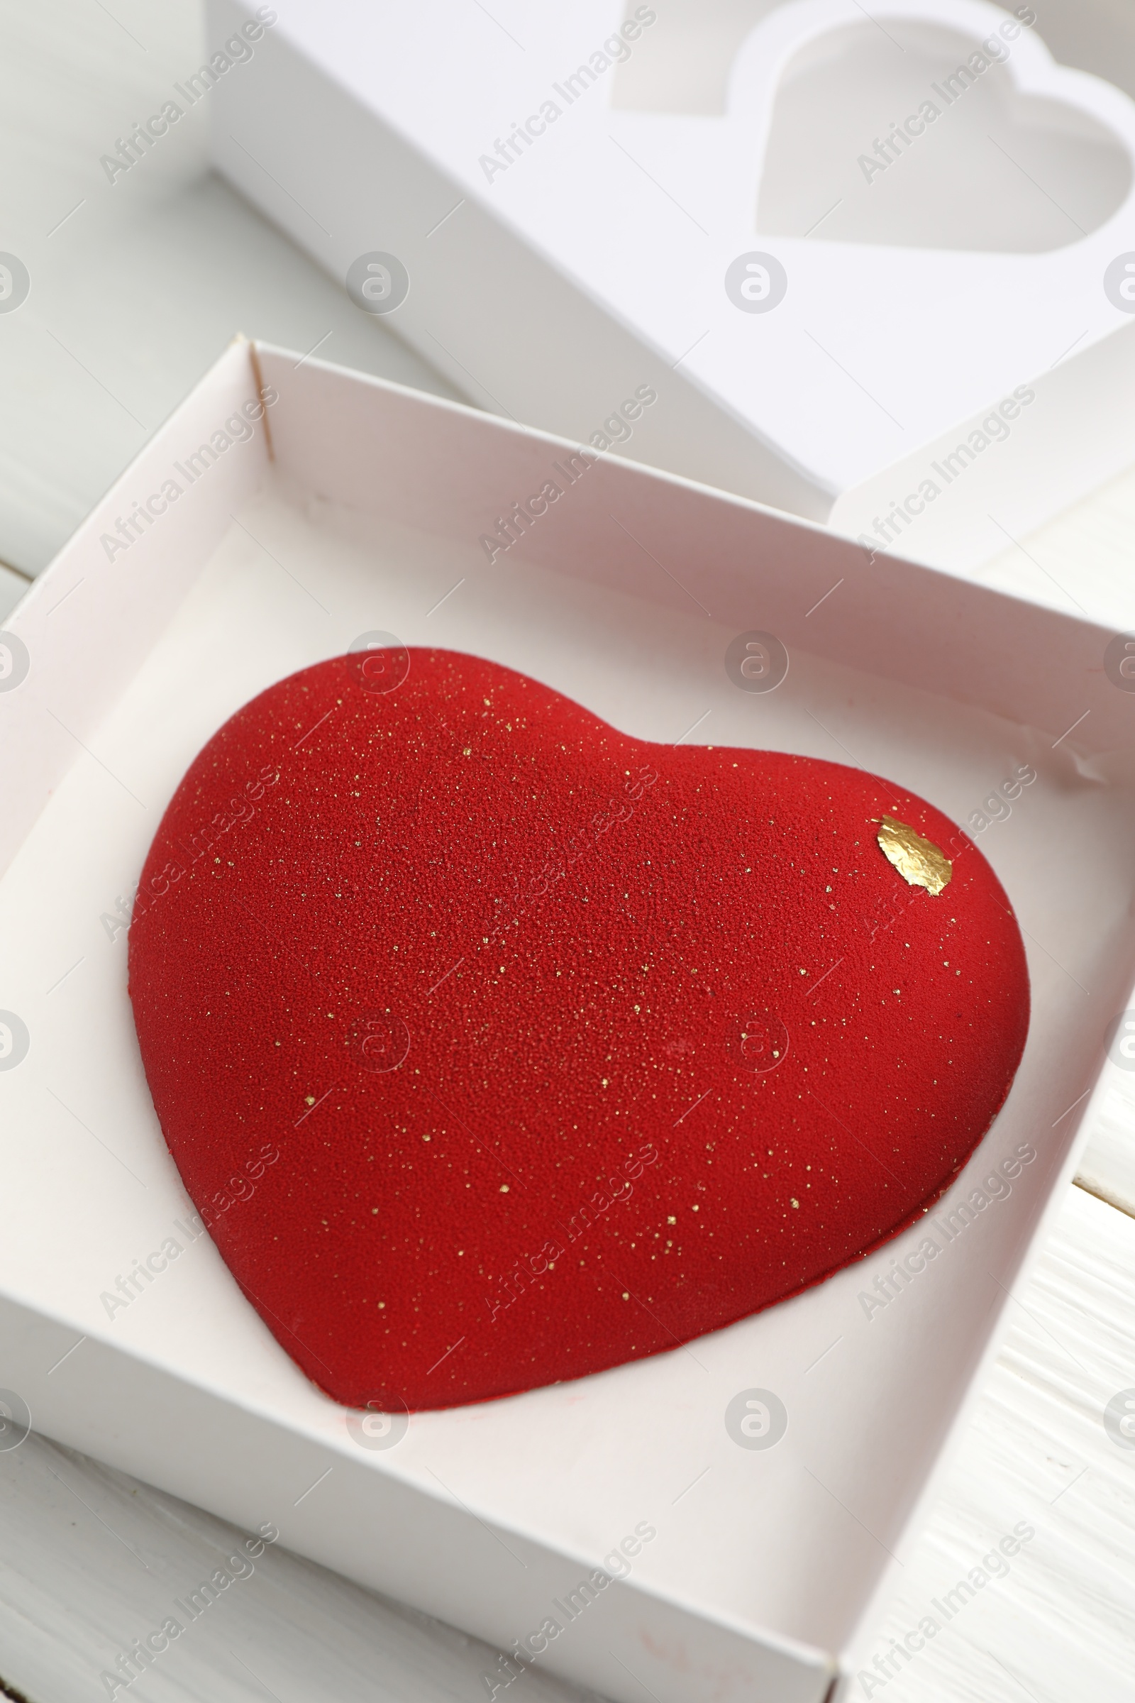
[[[1135,458],[1135,102],[1016,10],[209,0],[213,158],[483,407],[963,567]]]

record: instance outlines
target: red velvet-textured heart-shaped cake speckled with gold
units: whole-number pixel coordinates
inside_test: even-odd
[[[322,662],[221,727],[129,935],[170,1151],[328,1395],[449,1407],[672,1349],[950,1182],[1028,976],[944,816],[628,739],[470,656],[357,678]],[[956,857],[941,896],[885,812]]]

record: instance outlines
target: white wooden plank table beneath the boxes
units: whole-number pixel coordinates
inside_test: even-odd
[[[237,330],[451,393],[208,174],[202,107],[106,181],[99,157],[199,63],[191,0],[0,0],[0,250],[32,276],[0,313],[0,613]],[[1133,553],[1135,468],[977,577],[1135,628]],[[887,1703],[1135,1700],[1135,1449],[1103,1425],[1135,1386],[1135,1075],[1108,1069],[1079,1187],[1014,1294],[878,1655],[1018,1521],[1036,1538],[871,1693]],[[0,1677],[32,1703],[106,1696],[100,1671],[228,1550],[211,1516],[36,1436],[0,1453]],[[271,1550],[131,1689],[441,1703],[483,1696],[488,1666],[476,1640]]]

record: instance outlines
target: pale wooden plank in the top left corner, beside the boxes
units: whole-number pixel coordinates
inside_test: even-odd
[[[24,572],[51,560],[237,332],[456,395],[209,172],[208,99],[107,179],[116,138],[201,65],[201,12],[0,5],[0,155],[19,162],[0,184],[2,245],[31,274],[27,300],[0,315],[0,562]],[[422,208],[424,230],[444,211]]]

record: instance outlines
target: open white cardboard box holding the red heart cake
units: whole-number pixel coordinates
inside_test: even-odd
[[[46,1434],[247,1528],[271,1519],[502,1650],[648,1522],[630,1577],[565,1616],[541,1664],[618,1703],[643,1686],[659,1703],[820,1703],[871,1637],[1132,984],[1135,702],[1104,673],[1109,635],[611,458],[488,565],[480,535],[565,444],[279,349],[259,363],[279,393],[271,446],[259,427],[189,482],[189,456],[257,395],[235,344],[3,632],[0,1008],[29,1046],[0,1069],[0,1385]],[[182,489],[158,513],[167,480]],[[145,502],[153,525],[111,548]],[[723,668],[754,627],[791,654],[762,697]],[[524,668],[642,737],[704,717],[706,743],[856,761],[961,823],[1036,768],[980,841],[1026,935],[1029,1041],[936,1216],[1019,1144],[1036,1160],[885,1310],[858,1296],[924,1224],[687,1350],[420,1413],[374,1451],[209,1238],[189,1240],[112,916],[214,729],[374,628]],[[102,1291],[168,1235],[180,1257],[109,1320]],[[790,1415],[767,1451],[725,1429],[752,1388]]]

